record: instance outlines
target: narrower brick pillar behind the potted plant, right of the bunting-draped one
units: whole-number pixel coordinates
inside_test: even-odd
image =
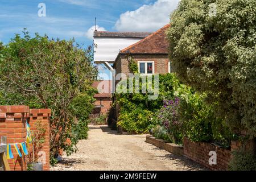
[[[51,109],[30,109],[30,127],[33,131],[37,130],[36,123],[40,122],[42,127],[46,130],[44,135],[44,143],[42,147],[39,148],[39,151],[36,151],[35,155],[46,155],[46,161],[43,164],[43,171],[49,171],[49,118],[51,117]],[[32,145],[30,147],[30,156],[32,154]]]

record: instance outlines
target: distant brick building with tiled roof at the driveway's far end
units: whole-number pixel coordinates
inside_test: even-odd
[[[94,109],[91,117],[93,117],[93,115],[98,116],[101,114],[107,114],[112,105],[112,81],[95,81],[92,86],[95,89],[100,88],[102,92],[94,95],[96,101],[94,102]]]

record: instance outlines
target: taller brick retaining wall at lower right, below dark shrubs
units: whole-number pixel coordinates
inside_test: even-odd
[[[210,151],[216,152],[217,165],[209,164]],[[231,150],[225,150],[211,143],[191,142],[184,138],[184,156],[214,171],[226,171],[231,159]]]

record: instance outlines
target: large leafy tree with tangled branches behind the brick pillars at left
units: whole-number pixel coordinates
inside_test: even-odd
[[[92,49],[74,44],[38,34],[31,38],[27,31],[6,46],[0,44],[0,102],[52,109],[52,155],[61,148],[67,154],[76,151],[74,125],[88,116],[93,104],[91,85],[97,70]]]

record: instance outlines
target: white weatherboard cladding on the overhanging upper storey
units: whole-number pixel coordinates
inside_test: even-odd
[[[141,39],[135,38],[94,38],[94,61],[114,63],[118,53]]]

